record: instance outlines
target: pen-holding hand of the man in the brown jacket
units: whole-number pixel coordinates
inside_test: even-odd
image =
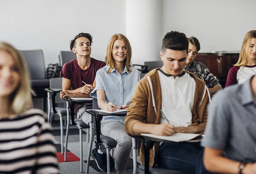
[[[157,124],[152,127],[151,134],[169,136],[174,134],[175,127],[169,123]]]

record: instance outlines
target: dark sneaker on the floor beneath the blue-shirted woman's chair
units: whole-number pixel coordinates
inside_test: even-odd
[[[91,156],[95,160],[99,170],[101,170],[101,171],[108,171],[107,155],[106,154],[99,154],[98,153],[98,148],[94,148],[92,150]],[[114,167],[115,167],[114,159],[113,159],[113,157],[110,156],[110,168],[114,168]]]

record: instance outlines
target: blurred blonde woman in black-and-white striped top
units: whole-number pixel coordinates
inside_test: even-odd
[[[59,174],[45,113],[31,105],[29,73],[14,47],[0,43],[0,173]]]

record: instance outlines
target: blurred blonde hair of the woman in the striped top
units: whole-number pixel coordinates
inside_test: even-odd
[[[12,112],[12,114],[23,113],[29,108],[32,91],[30,87],[29,73],[26,68],[26,63],[20,52],[8,43],[1,42],[0,51],[5,51],[12,56],[17,66],[17,71],[20,75],[20,83],[10,96],[10,111]]]

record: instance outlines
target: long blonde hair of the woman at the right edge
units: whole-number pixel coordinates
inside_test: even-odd
[[[247,65],[247,51],[250,45],[250,41],[252,40],[252,38],[256,38],[256,30],[251,30],[249,32],[247,32],[244,36],[244,40],[242,43],[242,47],[241,47],[241,51],[239,54],[239,59],[237,61],[237,63],[233,66],[246,66]]]

